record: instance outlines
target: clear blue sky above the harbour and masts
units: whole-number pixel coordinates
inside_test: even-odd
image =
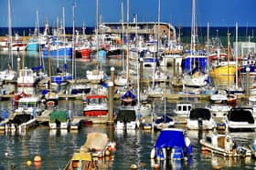
[[[73,25],[73,5],[75,5],[75,25],[95,26],[97,0],[10,0],[13,27],[35,26],[37,12],[39,25],[55,26],[57,18],[62,21],[63,8],[65,25]],[[160,1],[160,21],[175,26],[190,26],[192,0],[128,0],[129,20],[137,15],[139,22],[158,21]],[[7,26],[8,0],[0,0],[0,26]],[[120,22],[122,2],[124,20],[127,18],[127,0],[98,0],[101,22]],[[197,0],[197,26],[256,26],[256,0]]]

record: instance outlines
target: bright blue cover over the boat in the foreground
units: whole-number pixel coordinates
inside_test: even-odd
[[[187,147],[185,144],[185,136],[183,130],[175,128],[163,129],[158,136],[155,147]]]

